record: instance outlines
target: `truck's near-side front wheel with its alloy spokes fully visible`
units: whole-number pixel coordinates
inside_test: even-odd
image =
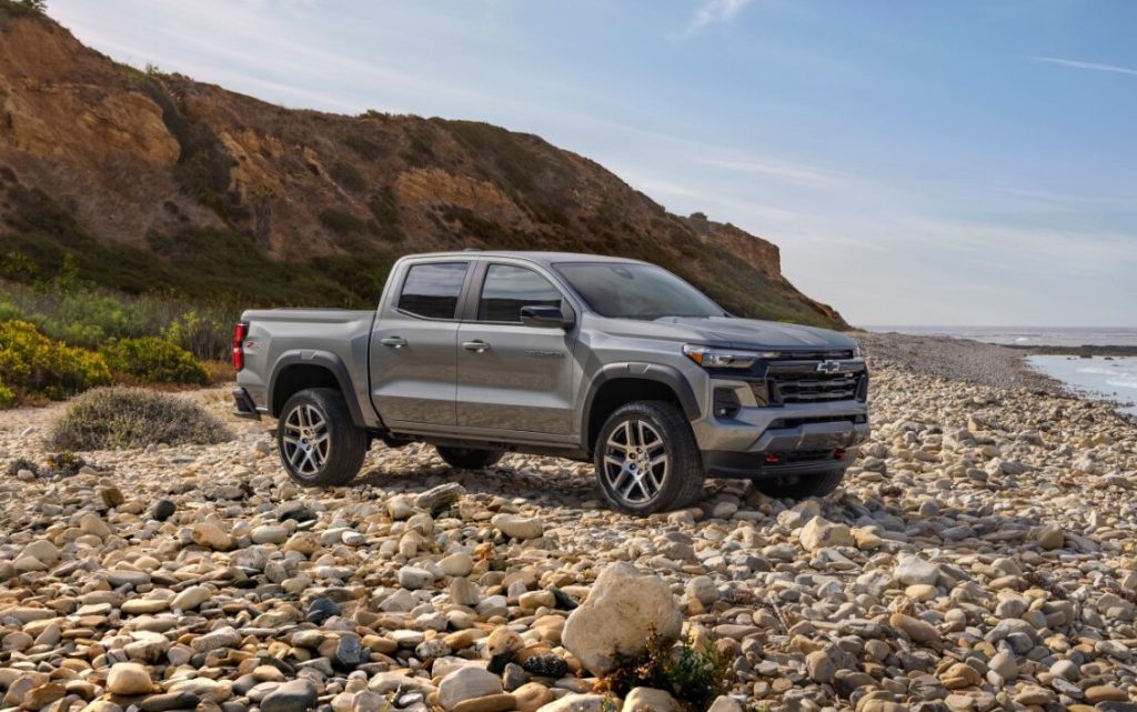
[[[657,463],[659,455],[666,460]],[[637,400],[617,408],[596,439],[594,463],[604,498],[621,512],[679,510],[703,497],[703,456],[687,416],[672,403]]]

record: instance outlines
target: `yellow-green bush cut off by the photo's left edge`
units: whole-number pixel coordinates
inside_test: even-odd
[[[13,320],[0,322],[0,383],[11,391],[10,404],[22,396],[58,400],[110,383],[110,369],[99,354],[58,343],[33,324]]]

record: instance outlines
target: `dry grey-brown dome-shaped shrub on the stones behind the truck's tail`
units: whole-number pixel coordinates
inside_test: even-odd
[[[75,398],[51,429],[59,450],[103,450],[166,445],[213,445],[232,439],[200,406],[141,388],[100,388]]]

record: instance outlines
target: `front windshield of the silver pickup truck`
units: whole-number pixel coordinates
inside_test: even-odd
[[[615,318],[725,316],[722,307],[674,274],[636,263],[565,263],[556,271],[594,312]]]

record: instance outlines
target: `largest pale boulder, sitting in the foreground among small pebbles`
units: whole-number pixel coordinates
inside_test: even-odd
[[[653,631],[664,641],[675,640],[682,623],[663,579],[617,562],[600,572],[588,599],[568,615],[562,641],[584,668],[604,674],[617,657],[642,654]]]

